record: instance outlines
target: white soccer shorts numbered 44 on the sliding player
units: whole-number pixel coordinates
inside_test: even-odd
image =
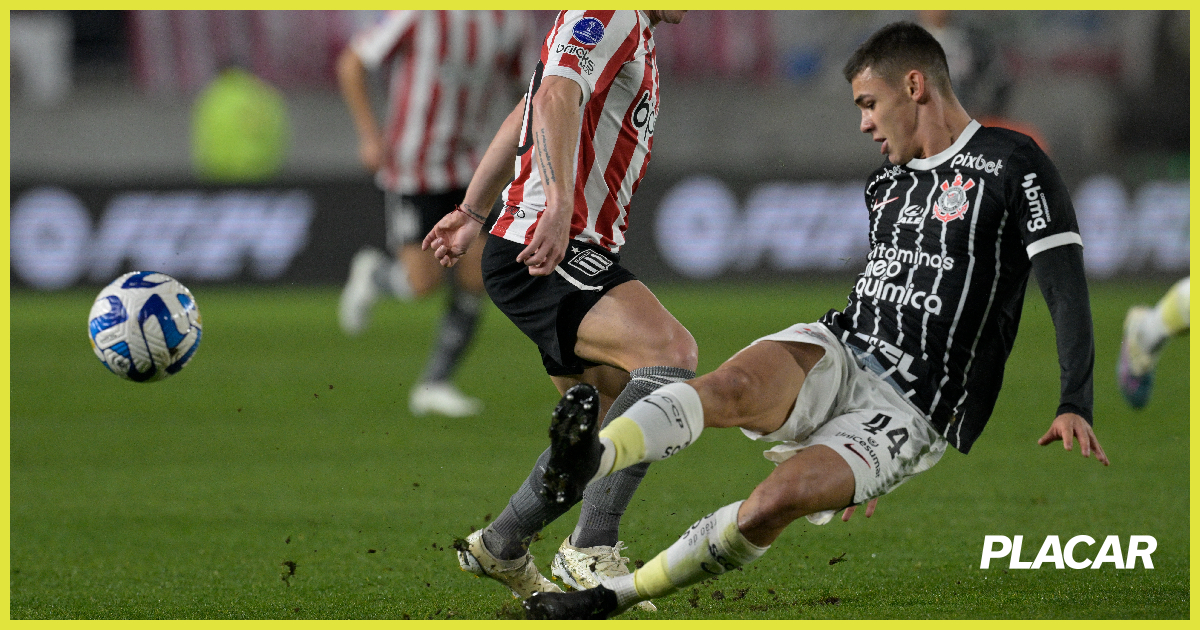
[[[826,350],[804,379],[796,407],[781,427],[766,436],[742,430],[751,439],[782,442],[763,452],[768,460],[780,463],[800,449],[824,444],[854,472],[858,504],[892,492],[946,452],[946,439],[924,414],[863,367],[824,324],[796,324],[754,343],[761,341],[812,343]],[[808,518],[823,524],[833,515],[830,510]]]

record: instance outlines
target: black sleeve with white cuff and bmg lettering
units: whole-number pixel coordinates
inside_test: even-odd
[[[1014,150],[1008,168],[1008,208],[1018,218],[1028,257],[1064,245],[1082,246],[1070,193],[1045,152],[1030,140]]]

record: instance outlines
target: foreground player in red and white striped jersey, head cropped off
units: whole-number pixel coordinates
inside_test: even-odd
[[[559,13],[526,97],[485,154],[461,211],[442,220],[424,242],[454,265],[469,253],[503,191],[504,211],[484,248],[488,296],[538,344],[559,392],[578,383],[598,388],[600,418],[695,377],[691,334],[619,263],[659,114],[654,29],[682,17],[679,11]],[[458,545],[463,569],[521,596],[558,590],[538,572],[528,547],[580,499],[542,496],[547,457],[548,451],[496,521]],[[644,474],[644,464],[629,467],[582,497],[578,527],[560,545],[554,575],[587,588],[628,574],[618,526]],[[641,606],[653,610],[649,602]]]

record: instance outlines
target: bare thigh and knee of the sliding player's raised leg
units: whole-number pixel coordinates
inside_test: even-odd
[[[760,341],[691,382],[704,426],[773,433],[787,420],[805,377],[824,350],[814,344]]]

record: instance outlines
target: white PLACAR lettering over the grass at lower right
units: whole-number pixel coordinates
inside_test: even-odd
[[[1081,547],[1091,547],[1096,539],[1086,534],[1072,538],[1066,545],[1060,544],[1057,535],[1049,535],[1042,542],[1042,548],[1032,560],[1021,560],[1021,542],[1025,536],[983,536],[983,556],[979,559],[979,568],[988,569],[991,560],[1008,556],[1009,569],[1040,569],[1043,565],[1052,564],[1055,569],[1099,569],[1105,564],[1111,564],[1117,569],[1135,569],[1138,559],[1141,559],[1144,569],[1153,569],[1154,563],[1150,554],[1158,548],[1154,536],[1129,536],[1129,544],[1121,553],[1121,536],[1105,536],[1094,558],[1079,558],[1088,556]]]

